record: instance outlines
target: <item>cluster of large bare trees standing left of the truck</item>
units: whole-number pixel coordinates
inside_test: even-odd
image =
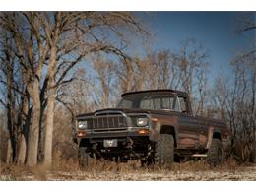
[[[29,166],[38,152],[51,164],[55,100],[72,82],[69,72],[97,53],[127,60],[126,36],[148,35],[127,12],[3,12],[0,28],[1,103],[12,161]]]

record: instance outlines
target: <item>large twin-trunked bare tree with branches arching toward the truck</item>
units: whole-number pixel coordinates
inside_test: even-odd
[[[32,98],[27,159],[30,166],[37,163],[44,109],[44,163],[51,164],[55,99],[58,88],[72,82],[69,72],[96,52],[128,58],[124,53],[129,41],[126,34],[147,33],[128,12],[2,13],[1,28],[12,33],[13,52],[23,68],[24,83]]]

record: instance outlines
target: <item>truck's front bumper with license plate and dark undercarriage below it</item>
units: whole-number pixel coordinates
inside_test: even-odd
[[[81,130],[80,130],[81,131]],[[78,136],[77,142],[80,147],[85,147],[88,153],[96,154],[106,160],[110,157],[122,157],[123,160],[140,159],[149,151],[150,129],[129,128],[126,131],[94,132],[85,131],[85,135]]]

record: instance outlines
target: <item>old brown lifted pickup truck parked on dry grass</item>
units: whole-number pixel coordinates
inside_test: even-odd
[[[184,157],[217,165],[229,131],[223,121],[194,116],[186,93],[150,90],[123,94],[117,108],[77,115],[74,141],[82,167],[91,159],[170,167]]]

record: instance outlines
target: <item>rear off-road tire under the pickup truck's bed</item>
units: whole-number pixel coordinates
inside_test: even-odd
[[[220,139],[214,138],[210,149],[208,150],[207,162],[216,166],[221,164],[224,161],[224,149],[222,141]]]

